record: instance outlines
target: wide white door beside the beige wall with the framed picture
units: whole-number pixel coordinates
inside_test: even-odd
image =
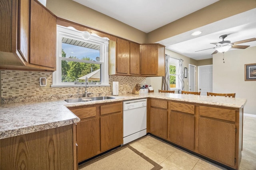
[[[212,92],[212,65],[198,66],[198,92],[204,96]]]

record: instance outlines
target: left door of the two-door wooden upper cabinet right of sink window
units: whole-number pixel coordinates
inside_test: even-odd
[[[130,42],[117,39],[117,73],[129,74],[130,73]]]

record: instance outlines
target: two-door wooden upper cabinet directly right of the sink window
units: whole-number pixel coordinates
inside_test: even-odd
[[[140,45],[117,38],[109,45],[109,75],[140,75]]]

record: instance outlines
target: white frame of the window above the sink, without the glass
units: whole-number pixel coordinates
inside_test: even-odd
[[[85,86],[84,84],[75,84],[75,82],[62,82],[62,60],[75,61],[82,63],[100,64],[100,82],[96,84],[89,84],[89,86],[110,86],[108,80],[108,42],[107,37],[99,37],[96,34],[91,34],[90,39],[82,38],[83,31],[78,31],[73,27],[63,27],[57,25],[57,39],[56,39],[56,71],[52,74],[51,87],[77,87]],[[85,41],[100,45],[100,61],[82,61],[80,59],[64,58],[62,57],[62,37],[72,38],[79,41]]]

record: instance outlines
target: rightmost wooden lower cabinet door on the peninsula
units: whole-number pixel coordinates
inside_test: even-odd
[[[232,123],[199,118],[198,151],[220,163],[235,164],[235,130]]]

